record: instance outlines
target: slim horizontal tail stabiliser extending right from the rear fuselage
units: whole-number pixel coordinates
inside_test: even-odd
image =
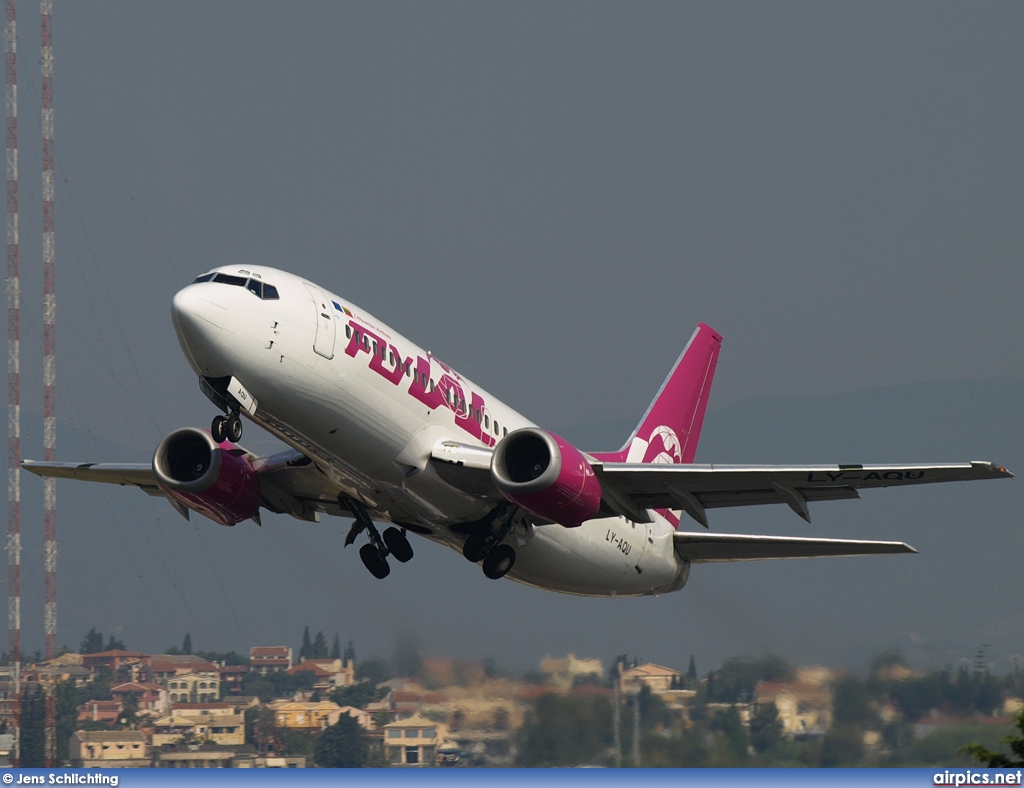
[[[761,561],[777,558],[819,558],[822,556],[877,556],[916,553],[902,541],[860,539],[807,539],[796,536],[748,536],[734,533],[689,533],[672,536],[676,554],[691,564],[723,561]]]

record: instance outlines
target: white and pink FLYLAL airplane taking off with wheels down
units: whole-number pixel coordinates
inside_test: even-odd
[[[592,597],[682,588],[693,564],[915,553],[900,541],[712,533],[720,507],[810,504],[873,487],[1012,478],[972,462],[695,464],[722,337],[700,323],[618,451],[585,452],[341,296],[282,270],[221,266],[173,298],[174,330],[221,414],[175,430],[147,464],[40,463],[39,476],[139,487],[186,519],[262,510],[352,519],[345,546],[377,578],[413,558],[409,532],[492,579]],[[257,456],[242,418],[288,449]],[[377,523],[387,524],[381,532]]]

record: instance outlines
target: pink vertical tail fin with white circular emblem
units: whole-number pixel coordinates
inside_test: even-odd
[[[626,445],[594,456],[612,463],[692,463],[721,349],[722,335],[699,323]]]

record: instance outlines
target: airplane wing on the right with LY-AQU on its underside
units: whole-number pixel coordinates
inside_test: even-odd
[[[906,484],[1006,479],[991,463],[933,465],[720,466],[594,464],[604,504],[629,516],[636,509],[682,510],[706,528],[706,510],[786,504],[810,522],[812,500],[859,497],[858,489]],[[625,498],[625,500],[622,500]],[[634,510],[635,513],[635,510]]]

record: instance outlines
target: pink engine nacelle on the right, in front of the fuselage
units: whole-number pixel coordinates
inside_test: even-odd
[[[530,514],[577,528],[597,514],[601,483],[564,438],[527,427],[495,447],[490,477],[499,492]]]

